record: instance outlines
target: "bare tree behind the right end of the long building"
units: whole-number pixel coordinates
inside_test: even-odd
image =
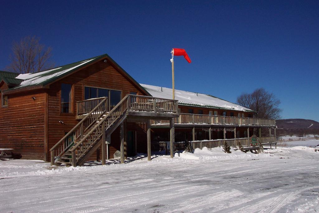
[[[268,93],[264,88],[258,88],[252,93],[243,93],[237,97],[237,103],[243,107],[255,110],[257,118],[280,119],[281,109],[279,99]]]

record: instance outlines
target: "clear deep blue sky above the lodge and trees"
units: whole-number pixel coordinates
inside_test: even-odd
[[[319,121],[319,1],[3,1],[0,70],[27,35],[56,65],[108,53],[139,83],[231,102],[264,87],[282,118]]]

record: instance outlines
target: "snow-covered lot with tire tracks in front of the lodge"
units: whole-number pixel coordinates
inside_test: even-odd
[[[54,170],[38,160],[1,161],[0,212],[319,211],[314,148],[182,156]]]

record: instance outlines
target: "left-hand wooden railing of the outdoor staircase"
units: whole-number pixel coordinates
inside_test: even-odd
[[[102,97],[100,99],[100,103],[50,149],[51,165],[59,160],[77,141],[83,138],[86,132],[108,111],[108,98]]]

